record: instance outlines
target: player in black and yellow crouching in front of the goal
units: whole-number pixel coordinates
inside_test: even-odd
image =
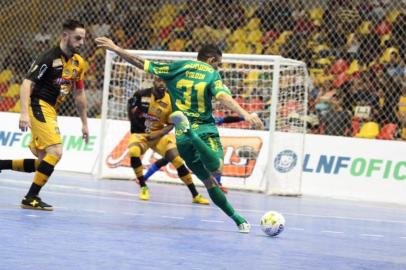
[[[168,121],[171,113],[171,100],[166,92],[165,83],[158,77],[154,79],[152,88],[137,91],[128,100],[128,116],[131,122],[131,138],[128,147],[131,167],[141,186],[139,198],[149,200],[149,189],[145,184],[141,156],[152,148],[175,166],[179,178],[192,193],[193,203],[209,204],[209,201],[197,192],[191,173],[179,156],[173,138],[168,135],[173,128]]]

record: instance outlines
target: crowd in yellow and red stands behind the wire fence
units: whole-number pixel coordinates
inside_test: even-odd
[[[125,48],[169,51],[196,51],[210,42],[226,53],[304,61],[312,81],[304,119],[310,132],[406,140],[406,1],[84,2],[77,18],[89,32],[83,56],[91,117],[100,115],[105,57],[94,37],[110,36]],[[46,26],[38,29],[31,52],[17,44],[2,63],[1,111],[19,111],[18,84],[32,55],[53,44]],[[260,89],[229,87],[240,104],[269,119],[271,102]],[[69,100],[61,113],[75,114]]]

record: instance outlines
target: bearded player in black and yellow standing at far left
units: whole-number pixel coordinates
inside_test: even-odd
[[[83,139],[89,137],[86,96],[84,92],[84,60],[78,54],[84,44],[86,30],[75,20],[63,24],[59,46],[41,54],[32,64],[20,89],[21,115],[19,127],[31,129],[31,152],[37,159],[0,160],[0,170],[35,172],[34,181],[22,208],[53,210],[38,194],[62,156],[62,140],[57,124],[57,108],[73,93],[82,121]]]

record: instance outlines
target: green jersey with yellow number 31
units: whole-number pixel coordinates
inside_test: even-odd
[[[182,111],[192,125],[214,123],[212,98],[220,93],[231,95],[230,90],[223,84],[219,72],[205,62],[145,61],[144,70],[165,81],[173,111]]]

